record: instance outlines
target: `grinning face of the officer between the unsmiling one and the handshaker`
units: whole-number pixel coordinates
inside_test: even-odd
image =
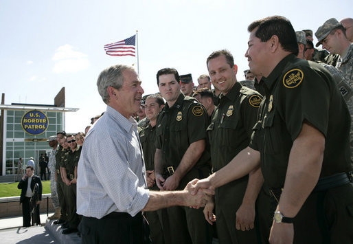
[[[227,63],[225,55],[220,55],[210,59],[207,68],[214,87],[222,91],[223,94],[227,94],[236,83],[238,67],[236,65],[231,67],[229,63]]]

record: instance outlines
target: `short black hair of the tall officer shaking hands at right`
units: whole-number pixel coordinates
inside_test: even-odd
[[[282,48],[287,51],[298,55],[298,43],[297,36],[291,21],[284,18],[283,16],[269,16],[258,21],[253,21],[248,27],[248,31],[252,32],[256,27],[258,30],[255,32],[255,36],[260,38],[262,42],[269,41],[272,36],[278,36],[278,40],[282,45]]]

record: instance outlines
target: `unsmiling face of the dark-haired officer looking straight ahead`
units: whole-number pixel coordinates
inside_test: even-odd
[[[174,74],[162,74],[159,76],[159,92],[171,107],[180,95],[179,81]]]

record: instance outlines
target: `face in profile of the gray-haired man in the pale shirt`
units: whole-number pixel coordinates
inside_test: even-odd
[[[142,89],[141,80],[134,70],[125,69],[122,74],[124,76],[122,87],[120,89],[113,88],[113,93],[116,96],[111,96],[109,104],[114,104],[116,110],[125,118],[130,118],[141,107],[144,89]]]

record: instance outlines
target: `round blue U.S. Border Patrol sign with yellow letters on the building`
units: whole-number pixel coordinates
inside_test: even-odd
[[[25,113],[21,120],[21,126],[23,131],[30,135],[41,135],[48,128],[49,120],[45,113],[32,110]]]

